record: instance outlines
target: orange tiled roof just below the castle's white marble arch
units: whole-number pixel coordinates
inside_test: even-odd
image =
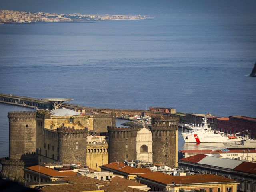
[[[128,174],[142,174],[149,173],[151,170],[149,168],[135,168],[125,165],[123,162],[113,162],[110,164],[102,165],[102,167],[110,168],[112,170],[117,170],[121,172],[125,172]]]

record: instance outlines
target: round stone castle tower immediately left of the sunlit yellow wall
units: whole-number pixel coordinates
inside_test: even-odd
[[[86,165],[86,139],[88,128],[57,128],[59,158],[62,164],[80,163]]]

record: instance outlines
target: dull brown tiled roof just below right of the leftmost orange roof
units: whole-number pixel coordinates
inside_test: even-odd
[[[102,181],[99,179],[94,179],[94,178],[90,178],[90,177],[86,177],[83,175],[80,176],[71,176],[71,177],[65,177],[62,178],[62,180],[66,180],[70,183],[75,183],[75,184],[95,184],[98,183],[100,185],[105,185],[108,183],[108,181]]]

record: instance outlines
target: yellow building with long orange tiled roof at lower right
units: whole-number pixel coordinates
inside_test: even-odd
[[[171,192],[236,192],[239,184],[236,180],[212,174],[170,176],[162,172],[152,172],[138,175],[136,179],[150,187],[151,191]]]

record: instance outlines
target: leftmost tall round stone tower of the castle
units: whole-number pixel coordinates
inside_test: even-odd
[[[36,152],[36,111],[8,112],[9,158],[22,159]],[[25,157],[26,158],[26,157]]]

